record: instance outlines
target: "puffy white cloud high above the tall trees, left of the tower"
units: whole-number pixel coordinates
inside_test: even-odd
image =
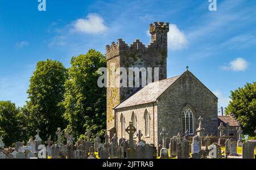
[[[104,19],[97,14],[88,14],[86,19],[77,19],[73,23],[72,31],[82,33],[100,34],[104,33],[108,29],[104,25]]]

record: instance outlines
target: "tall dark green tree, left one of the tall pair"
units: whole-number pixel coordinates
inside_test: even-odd
[[[64,83],[67,79],[67,69],[59,61],[39,61],[36,65],[30,86],[27,91],[30,101],[27,102],[31,114],[31,126],[35,134],[38,128],[40,137],[47,140],[55,137],[57,128],[64,128],[64,108],[60,104],[64,100]]]

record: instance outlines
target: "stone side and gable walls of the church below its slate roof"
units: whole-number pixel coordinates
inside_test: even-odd
[[[163,127],[166,128],[169,137],[182,133],[181,114],[186,106],[193,111],[194,133],[191,135],[196,135],[200,116],[204,118],[202,127],[205,129],[205,134],[217,135],[217,101],[217,97],[200,80],[191,72],[186,71],[155,102],[115,109],[118,138],[121,138],[119,127],[121,126],[121,114],[125,117],[125,124],[128,126],[134,112],[137,116],[137,131],[141,130],[145,133],[144,112],[147,109],[151,118],[150,138],[144,137],[143,140],[157,146],[162,143],[160,132]],[[167,138],[167,143],[170,142],[168,139],[170,138]]]

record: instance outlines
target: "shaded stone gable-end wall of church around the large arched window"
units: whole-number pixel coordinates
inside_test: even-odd
[[[194,134],[199,125],[198,118],[201,116],[204,119],[205,134],[217,135],[217,97],[189,71],[186,71],[158,99],[159,133],[163,127],[168,131],[168,137],[182,133],[181,111],[186,105],[190,105],[193,110]],[[159,138],[158,143],[162,143],[162,138]]]

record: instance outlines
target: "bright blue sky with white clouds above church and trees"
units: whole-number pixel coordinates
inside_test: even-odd
[[[226,107],[231,90],[254,82],[256,1],[0,1],[0,100],[22,106],[36,62],[57,59],[69,67],[72,56],[122,38],[149,44],[148,25],[170,22],[168,77],[188,65]]]

